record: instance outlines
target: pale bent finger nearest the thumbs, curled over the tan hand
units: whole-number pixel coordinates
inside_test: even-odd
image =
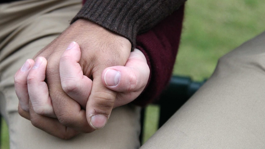
[[[77,101],[83,109],[92,88],[92,80],[83,75],[80,64],[80,47],[76,42],[72,42],[60,59],[61,86],[65,93]]]

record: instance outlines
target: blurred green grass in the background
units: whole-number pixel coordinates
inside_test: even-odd
[[[173,74],[198,81],[211,76],[221,56],[265,30],[264,8],[263,0],[188,0]],[[148,106],[144,141],[157,129],[158,112]],[[3,123],[0,148],[8,149],[8,143]]]

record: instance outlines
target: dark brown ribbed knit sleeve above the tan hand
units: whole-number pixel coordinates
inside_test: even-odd
[[[87,0],[72,22],[90,20],[136,44],[136,35],[151,29],[186,0]]]

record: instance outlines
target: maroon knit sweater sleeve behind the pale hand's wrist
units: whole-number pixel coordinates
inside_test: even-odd
[[[180,43],[184,5],[146,33],[136,37],[136,48],[147,58],[150,68],[148,84],[133,101],[145,106],[156,100],[168,84]]]

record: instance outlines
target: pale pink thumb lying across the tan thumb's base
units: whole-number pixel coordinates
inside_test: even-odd
[[[102,83],[117,92],[142,91],[148,82],[150,69],[144,54],[134,49],[125,66],[106,68],[101,76]]]

